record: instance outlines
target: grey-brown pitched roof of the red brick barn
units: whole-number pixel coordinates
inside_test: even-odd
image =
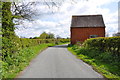
[[[72,16],[71,27],[105,27],[102,15]]]

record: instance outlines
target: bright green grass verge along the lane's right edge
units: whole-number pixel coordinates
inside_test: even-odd
[[[78,59],[81,59],[84,62],[92,65],[93,69],[99,72],[100,74],[102,74],[105,78],[108,78],[110,80],[120,80],[120,76],[118,74],[119,68],[117,66],[109,64],[109,63],[107,64],[107,63],[102,62],[101,60],[91,58],[90,56],[85,55],[85,53],[81,54],[82,52],[85,51],[84,49],[82,49],[83,51],[81,51],[81,53],[79,53],[80,50],[74,49],[73,47],[68,47],[68,50],[74,55],[76,55]],[[88,53],[90,52],[88,51]]]

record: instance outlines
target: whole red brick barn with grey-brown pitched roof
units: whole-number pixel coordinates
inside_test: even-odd
[[[105,37],[105,24],[102,15],[72,16],[71,44],[94,37]]]

